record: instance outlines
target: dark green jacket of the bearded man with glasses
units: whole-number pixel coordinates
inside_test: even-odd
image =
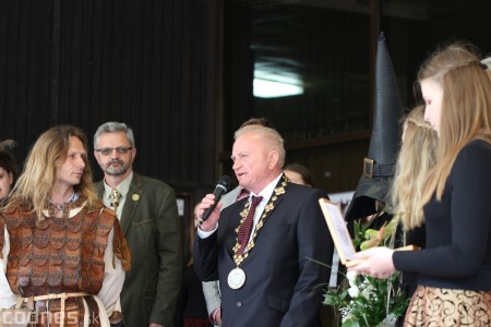
[[[104,182],[96,184],[103,198]],[[176,193],[167,184],[133,172],[120,218],[131,250],[131,270],[121,292],[125,327],[173,326],[182,270]]]

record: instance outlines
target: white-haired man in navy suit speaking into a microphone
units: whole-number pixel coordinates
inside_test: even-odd
[[[250,125],[235,136],[233,170],[251,196],[221,213],[218,203],[202,222],[193,249],[196,274],[219,279],[223,326],[318,326],[331,271],[312,259],[331,265],[334,250],[319,204],[325,193],[288,181],[275,130]],[[199,218],[214,202],[213,194],[203,198]]]

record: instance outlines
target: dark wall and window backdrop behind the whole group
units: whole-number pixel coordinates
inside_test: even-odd
[[[233,131],[263,116],[316,186],[352,191],[379,33],[409,108],[429,52],[451,39],[489,52],[490,19],[488,0],[0,0],[0,140],[19,143],[22,164],[52,125],[77,125],[92,142],[99,124],[123,121],[135,170],[194,203],[231,173]],[[297,73],[304,93],[255,98],[254,68]]]

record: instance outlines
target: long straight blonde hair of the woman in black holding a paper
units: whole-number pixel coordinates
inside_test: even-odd
[[[436,166],[428,175],[422,204],[434,193],[441,199],[445,182],[460,149],[471,140],[491,144],[491,72],[478,58],[477,49],[451,44],[432,55],[418,73],[443,89]]]

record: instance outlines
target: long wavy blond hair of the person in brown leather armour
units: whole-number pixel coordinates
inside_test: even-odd
[[[85,133],[72,125],[58,125],[43,133],[31,149],[24,165],[24,170],[12,192],[12,197],[5,207],[28,205],[41,217],[41,210],[46,208],[46,201],[57,182],[57,168],[67,159],[70,148],[70,136],[77,137],[85,152],[87,150],[87,137]],[[91,165],[87,157],[81,182],[73,189],[81,198],[86,198],[92,205],[97,199],[92,180]]]

